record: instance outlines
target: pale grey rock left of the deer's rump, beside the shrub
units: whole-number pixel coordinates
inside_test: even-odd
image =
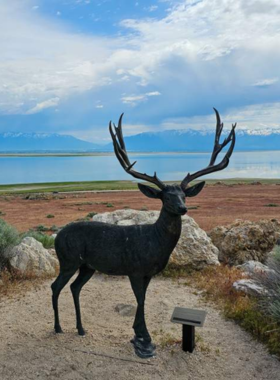
[[[55,275],[58,260],[32,237],[26,237],[9,253],[12,268],[36,276]]]

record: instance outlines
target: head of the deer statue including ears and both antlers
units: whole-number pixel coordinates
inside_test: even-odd
[[[141,179],[141,180],[144,180],[146,182],[150,182],[156,185],[159,189],[146,186],[141,183],[138,183],[138,188],[144,195],[146,195],[149,198],[161,199],[163,202],[163,207],[166,209],[166,211],[168,211],[171,214],[184,215],[187,212],[187,207],[185,205],[186,197],[196,196],[197,194],[200,193],[200,191],[203,189],[205,185],[205,181],[203,181],[193,186],[188,186],[191,181],[203,175],[225,169],[229,164],[229,159],[235,145],[236,124],[232,125],[230,133],[224,139],[224,141],[220,143],[220,137],[223,130],[223,123],[221,123],[221,119],[220,119],[220,115],[218,111],[215,108],[214,108],[214,111],[215,111],[216,120],[217,120],[216,135],[215,135],[214,148],[213,148],[209,165],[206,168],[199,170],[193,174],[188,173],[188,175],[183,179],[180,185],[177,185],[177,184],[166,185],[157,177],[156,173],[154,173],[153,176],[149,176],[145,173],[139,173],[135,171],[133,169],[133,166],[136,164],[136,161],[133,163],[130,162],[127,152],[126,152],[124,139],[123,139],[123,133],[122,133],[123,114],[119,118],[118,126],[116,127],[114,124],[115,132],[113,131],[112,123],[110,121],[109,130],[110,130],[110,134],[113,140],[114,151],[121,166],[124,168],[124,170],[128,174],[132,175],[134,178]],[[221,160],[220,163],[215,165],[215,161],[217,159],[218,154],[229,143],[230,143],[229,149],[227,153],[225,154],[224,158]]]

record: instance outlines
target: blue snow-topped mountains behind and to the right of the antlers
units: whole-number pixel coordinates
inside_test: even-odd
[[[209,152],[213,149],[215,134],[208,131],[196,130],[167,130],[163,132],[145,132],[125,137],[126,148],[129,151],[146,152]],[[225,137],[225,135],[224,135]],[[221,136],[221,141],[223,135]],[[108,144],[105,149],[112,149]],[[259,151],[280,150],[279,131],[245,131],[237,130],[235,150]]]

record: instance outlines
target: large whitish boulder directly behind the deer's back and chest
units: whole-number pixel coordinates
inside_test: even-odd
[[[121,226],[153,224],[159,211],[117,210],[95,215],[92,220]],[[176,266],[203,269],[207,265],[219,265],[218,249],[211,239],[189,216],[182,217],[182,234],[169,262]]]

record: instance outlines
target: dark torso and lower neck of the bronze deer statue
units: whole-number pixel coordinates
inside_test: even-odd
[[[154,224],[116,226],[78,222],[55,240],[61,268],[82,265],[115,276],[154,276],[161,272],[181,234],[181,217],[165,210]]]

